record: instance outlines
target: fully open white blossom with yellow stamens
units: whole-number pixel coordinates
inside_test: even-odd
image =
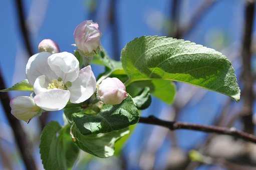
[[[34,85],[35,103],[44,110],[61,110],[70,100],[80,103],[96,89],[91,66],[79,70],[79,61],[69,52],[40,52],[29,58],[26,76]]]

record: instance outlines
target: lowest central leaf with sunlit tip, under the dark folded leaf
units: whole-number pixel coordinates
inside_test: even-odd
[[[115,142],[129,133],[128,128],[114,130],[108,133],[83,135],[76,125],[71,128],[73,140],[82,150],[98,157],[109,157],[114,154]]]

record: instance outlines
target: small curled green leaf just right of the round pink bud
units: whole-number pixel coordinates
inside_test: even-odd
[[[139,95],[132,98],[138,109],[146,109],[151,104],[150,88],[145,87]]]

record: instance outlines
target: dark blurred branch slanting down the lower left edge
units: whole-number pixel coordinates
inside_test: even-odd
[[[5,81],[0,70],[0,89],[5,89]],[[37,169],[35,160],[33,158],[32,144],[28,140],[26,132],[24,131],[20,121],[11,114],[10,96],[8,92],[0,93],[0,100],[2,102],[4,113],[8,119],[10,126],[12,127],[16,143],[20,149],[21,157],[24,160],[27,169]]]

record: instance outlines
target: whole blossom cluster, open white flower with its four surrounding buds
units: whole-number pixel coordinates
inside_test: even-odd
[[[78,51],[84,56],[100,46],[99,25],[92,20],[80,23],[74,32]],[[97,93],[105,104],[119,104],[127,97],[125,85],[118,78],[106,78],[96,90],[96,78],[90,65],[80,69],[79,61],[70,52],[60,52],[51,39],[39,43],[39,53],[26,65],[26,76],[34,92],[11,100],[12,114],[29,121],[45,110],[63,109],[69,102],[81,103]]]

